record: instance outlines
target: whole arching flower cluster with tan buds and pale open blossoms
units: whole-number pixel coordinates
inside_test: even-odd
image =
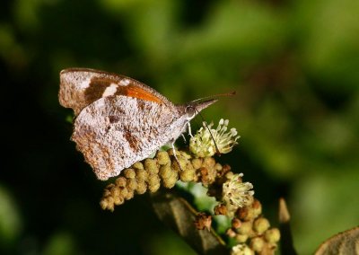
[[[207,196],[215,198],[216,206],[213,215],[197,213],[194,226],[198,230],[210,230],[215,215],[225,215],[232,221],[226,231],[235,242],[231,254],[274,254],[280,233],[270,228],[262,215],[262,206],[253,197],[253,185],[242,181],[242,173],[232,172],[229,165],[216,163],[212,157],[216,151],[230,152],[237,144],[240,136],[234,128],[227,132],[227,126],[228,120],[223,119],[216,129],[212,129],[213,124],[204,125],[191,137],[189,152],[172,149],[157,152],[153,159],[122,171],[104,190],[101,207],[113,211],[135,194],[155,192],[160,187],[171,189],[178,180],[201,183]]]

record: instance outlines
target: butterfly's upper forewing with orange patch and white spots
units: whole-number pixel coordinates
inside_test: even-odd
[[[87,68],[69,68],[60,73],[59,102],[66,108],[72,108],[75,115],[92,102],[114,95],[171,104],[153,88],[123,75]]]

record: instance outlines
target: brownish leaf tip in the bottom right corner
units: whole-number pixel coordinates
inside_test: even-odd
[[[359,254],[359,227],[337,233],[326,242],[320,244],[315,255]]]

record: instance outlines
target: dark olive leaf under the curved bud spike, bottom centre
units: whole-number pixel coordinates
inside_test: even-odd
[[[156,215],[179,233],[197,253],[229,254],[225,243],[212,228],[210,231],[196,229],[194,221],[197,212],[185,199],[161,191],[154,193],[152,198]]]

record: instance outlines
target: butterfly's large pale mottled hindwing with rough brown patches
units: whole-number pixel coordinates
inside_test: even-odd
[[[176,108],[127,96],[109,96],[85,107],[72,139],[100,180],[143,160],[169,141]]]

